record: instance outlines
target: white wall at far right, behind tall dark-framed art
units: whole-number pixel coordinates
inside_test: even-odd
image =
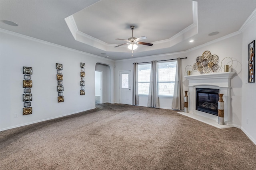
[[[242,31],[242,130],[256,144],[256,82],[248,83],[248,44],[256,40],[255,29],[256,12],[254,11],[252,20]]]

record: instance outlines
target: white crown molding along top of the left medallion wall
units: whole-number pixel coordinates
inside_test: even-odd
[[[6,33],[6,34],[9,34],[9,35],[14,35],[14,36],[17,36],[17,37],[20,37],[20,38],[28,39],[28,40],[30,40],[30,41],[35,41],[35,42],[38,42],[38,43],[43,43],[43,44],[46,44],[46,45],[50,45],[50,46],[52,46],[52,47],[58,47],[58,48],[61,48],[61,49],[66,49],[66,50],[72,51],[72,52],[76,52],[76,53],[88,55],[88,56],[90,56],[90,57],[96,57],[96,58],[104,59],[104,60],[107,60],[107,61],[114,61],[114,60],[112,60],[112,59],[106,59],[106,58],[100,57],[100,56],[98,56],[98,55],[86,53],[86,52],[79,51],[79,50],[76,50],[76,49],[72,49],[72,48],[69,48],[69,47],[65,47],[65,46],[62,46],[62,45],[50,43],[50,42],[48,42],[48,41],[44,41],[44,40],[41,40],[41,39],[36,39],[36,38],[33,38],[33,37],[29,37],[29,36],[27,36],[27,35],[23,35],[23,34],[20,34],[20,33],[15,33],[15,32],[12,32],[12,31],[8,31],[8,30],[6,30],[6,29],[1,29],[1,28],[0,28],[0,32]]]

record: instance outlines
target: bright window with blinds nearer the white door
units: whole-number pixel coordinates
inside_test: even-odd
[[[138,64],[138,94],[148,95],[150,82],[150,64]]]

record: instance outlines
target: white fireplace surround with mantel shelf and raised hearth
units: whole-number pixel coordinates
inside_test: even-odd
[[[235,72],[220,72],[212,74],[184,76],[188,80],[189,113],[178,113],[221,129],[233,127],[230,104],[230,79],[232,78],[234,73]],[[215,88],[220,90],[220,94],[224,94],[224,125],[218,124],[218,116],[196,110],[196,88]]]

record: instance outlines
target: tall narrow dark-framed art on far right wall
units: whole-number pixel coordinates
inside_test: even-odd
[[[255,49],[255,40],[253,40],[249,45],[248,45],[248,82],[249,83],[254,83],[255,82],[255,56],[254,56],[254,49]]]

